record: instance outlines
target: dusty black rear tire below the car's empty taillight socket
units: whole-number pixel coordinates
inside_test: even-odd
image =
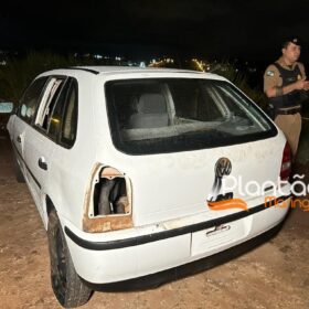
[[[55,210],[49,216],[49,249],[51,259],[51,281],[58,302],[65,308],[86,303],[92,290],[75,271],[65,236]]]

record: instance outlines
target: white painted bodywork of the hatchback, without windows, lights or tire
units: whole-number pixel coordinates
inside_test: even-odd
[[[281,131],[275,137],[246,143],[147,156],[130,156],[113,143],[107,116],[104,83],[116,79],[149,77],[224,78],[174,70],[131,70],[89,67],[56,70],[40,76],[72,76],[78,83],[78,126],[75,143],[67,149],[43,136],[30,125],[12,116],[8,128],[13,145],[28,168],[21,164],[26,183],[47,228],[46,196],[56,207],[62,226],[89,243],[108,243],[172,231],[223,216],[239,210],[211,211],[206,200],[214,183],[216,161],[226,157],[233,169],[231,177],[241,175],[244,183],[276,182],[280,172],[286,139]],[[21,136],[21,142],[15,139]],[[49,170],[38,167],[44,157]],[[129,177],[132,184],[132,228],[107,233],[83,232],[85,194],[96,163],[114,167]],[[41,188],[33,181],[31,170]],[[285,187],[289,194],[289,184]],[[264,203],[264,195],[241,196],[248,209]],[[94,284],[126,280],[154,274],[199,258],[213,255],[251,239],[281,222],[288,209],[271,207],[233,221],[231,233],[209,239],[213,227],[184,233],[141,245],[95,251],[79,246],[66,235],[77,274]],[[226,235],[226,236],[224,236]],[[159,253],[159,254],[158,254]],[[160,254],[164,253],[164,254]]]

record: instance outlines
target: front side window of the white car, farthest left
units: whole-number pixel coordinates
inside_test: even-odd
[[[40,104],[41,95],[49,76],[35,79],[24,92],[18,115],[26,122],[32,122]]]

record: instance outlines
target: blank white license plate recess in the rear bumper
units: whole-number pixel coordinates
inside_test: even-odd
[[[224,249],[224,246],[244,238],[247,232],[247,224],[243,219],[192,233],[191,256],[212,253],[221,247]]]

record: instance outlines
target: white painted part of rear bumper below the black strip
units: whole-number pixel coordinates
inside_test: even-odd
[[[233,222],[246,225],[243,233],[220,244],[207,239],[209,230],[121,249],[89,251],[77,246],[71,238],[67,244],[79,276],[93,284],[109,284],[162,271],[231,248],[276,226],[287,212],[287,207],[273,207]],[[65,221],[63,224],[70,226]]]

